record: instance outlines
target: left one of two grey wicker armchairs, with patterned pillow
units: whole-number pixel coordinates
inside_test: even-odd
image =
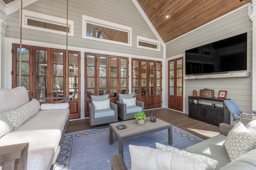
[[[92,97],[89,104],[89,123],[91,126],[113,123],[118,121],[117,105],[110,102],[108,95]]]

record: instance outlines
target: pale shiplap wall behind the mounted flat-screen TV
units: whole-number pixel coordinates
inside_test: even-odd
[[[252,113],[252,22],[248,16],[248,6],[166,44],[166,61],[175,56],[184,56],[185,60],[185,50],[187,49],[245,32],[247,32],[248,38],[246,72],[250,72],[250,77],[185,80],[185,113],[188,113],[188,96],[192,95],[194,89],[199,93],[199,90],[204,88],[213,89],[215,97],[218,97],[219,90],[228,91],[227,98],[235,101],[243,112]],[[221,104],[216,103],[216,105]]]

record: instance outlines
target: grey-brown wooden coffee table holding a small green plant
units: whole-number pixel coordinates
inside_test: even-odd
[[[116,126],[125,125],[126,128],[118,129]],[[150,117],[147,117],[144,125],[138,125],[137,119],[128,121],[116,122],[109,124],[109,144],[113,144],[113,132],[118,138],[118,150],[124,157],[124,140],[136,138],[145,134],[158,132],[168,129],[168,144],[172,145],[172,124],[156,119],[156,122],[150,122]]]

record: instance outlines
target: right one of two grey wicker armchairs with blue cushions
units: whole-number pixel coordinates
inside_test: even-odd
[[[144,102],[136,101],[136,97],[131,94],[118,94],[118,101],[116,101],[118,108],[118,117],[123,120],[135,119],[134,114],[144,111]]]

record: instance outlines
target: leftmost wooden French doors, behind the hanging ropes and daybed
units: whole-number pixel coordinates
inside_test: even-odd
[[[19,85],[22,52],[22,86],[30,98],[69,97],[70,119],[80,118],[80,52],[13,44],[12,87]],[[67,62],[68,61],[68,62]],[[56,99],[55,99],[56,100]],[[53,103],[42,100],[40,103]]]

